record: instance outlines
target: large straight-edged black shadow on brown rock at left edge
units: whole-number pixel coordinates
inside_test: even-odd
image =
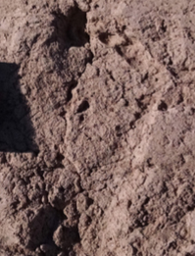
[[[0,151],[38,152],[18,71],[16,64],[0,63]]]

